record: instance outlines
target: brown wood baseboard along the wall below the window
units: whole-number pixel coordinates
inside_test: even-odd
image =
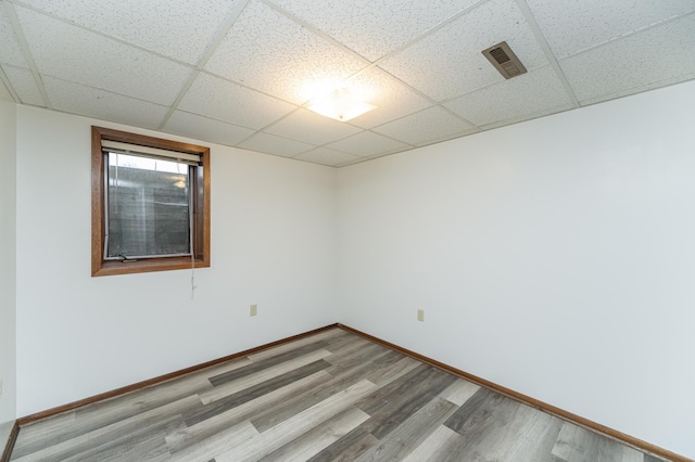
[[[191,372],[198,372],[200,370],[210,368],[212,365],[217,365],[217,364],[220,364],[223,362],[227,362],[227,361],[231,361],[231,360],[237,359],[237,358],[241,358],[243,356],[253,355],[253,354],[262,351],[264,349],[273,348],[273,347],[276,347],[276,346],[279,346],[279,345],[283,345],[283,344],[287,344],[287,343],[290,343],[290,342],[293,342],[293,341],[299,341],[300,338],[308,337],[311,335],[318,334],[319,332],[328,331],[330,329],[338,328],[338,326],[339,326],[338,324],[325,325],[323,328],[314,329],[313,331],[304,332],[304,333],[298,334],[298,335],[292,335],[290,337],[282,338],[280,341],[270,342],[269,344],[261,345],[261,346],[257,346],[255,348],[247,349],[244,351],[239,351],[239,352],[236,352],[233,355],[225,356],[223,358],[213,359],[212,361],[203,362],[203,363],[200,363],[200,364],[197,364],[197,365],[192,365],[190,368],[186,368],[186,369],[181,369],[181,370],[178,370],[178,371],[175,371],[175,372],[170,372],[168,374],[160,375],[160,376],[154,377],[154,378],[149,378],[147,381],[138,382],[138,383],[132,384],[132,385],[128,385],[128,386],[124,386],[124,387],[121,387],[121,388],[116,388],[116,389],[113,389],[111,392],[105,392],[105,393],[102,393],[102,394],[99,394],[99,395],[94,395],[94,396],[89,397],[89,398],[85,398],[85,399],[80,399],[80,400],[77,400],[77,401],[73,401],[73,402],[70,402],[67,405],[63,405],[63,406],[59,406],[59,407],[55,407],[55,408],[52,408],[52,409],[48,409],[46,411],[40,411],[40,412],[37,412],[35,414],[30,414],[30,415],[26,415],[24,418],[17,419],[16,425],[18,425],[18,427],[22,427],[23,425],[39,421],[41,419],[47,419],[47,418],[50,418],[50,416],[53,416],[53,415],[56,415],[56,414],[60,414],[60,413],[63,413],[63,412],[67,412],[67,411],[72,411],[72,410],[77,409],[77,408],[81,408],[83,406],[91,405],[91,403],[94,403],[94,402],[103,401],[105,399],[114,398],[116,396],[125,395],[126,393],[135,392],[135,390],[138,390],[140,388],[144,388],[144,387],[148,387],[148,386],[151,386],[151,385],[161,384],[162,382],[170,381],[173,378],[180,377],[181,375],[186,375],[186,374],[189,374]],[[18,432],[18,428],[17,428],[17,432]],[[15,435],[15,439],[16,439],[16,435]],[[9,457],[9,453],[8,453],[8,457]],[[2,461],[0,461],[0,462],[4,462],[4,459]]]

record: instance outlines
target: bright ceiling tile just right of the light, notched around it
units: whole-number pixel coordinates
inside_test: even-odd
[[[372,128],[431,105],[407,86],[378,68],[370,68],[345,85],[351,93],[376,110],[350,120],[352,125]]]

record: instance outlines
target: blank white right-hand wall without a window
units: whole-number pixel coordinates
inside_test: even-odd
[[[693,101],[340,169],[340,321],[695,458]]]

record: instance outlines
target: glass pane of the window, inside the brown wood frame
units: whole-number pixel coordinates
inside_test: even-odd
[[[106,258],[190,255],[188,165],[106,155]]]

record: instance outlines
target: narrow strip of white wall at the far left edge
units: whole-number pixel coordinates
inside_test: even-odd
[[[1,85],[1,84],[0,84]],[[0,452],[16,419],[15,245],[16,111],[0,102]]]

